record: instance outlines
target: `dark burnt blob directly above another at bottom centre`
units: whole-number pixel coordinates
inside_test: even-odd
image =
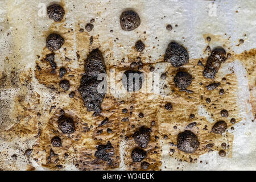
[[[147,145],[150,141],[150,132],[150,129],[142,126],[138,131],[133,134],[135,143],[137,143],[138,146],[141,148],[147,148]]]

